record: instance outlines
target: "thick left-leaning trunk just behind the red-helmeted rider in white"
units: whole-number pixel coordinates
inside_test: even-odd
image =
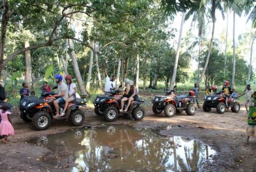
[[[86,97],[88,95],[86,88],[84,87],[84,82],[82,82],[82,77],[81,77],[81,73],[79,71],[79,67],[78,67],[78,59],[76,58],[76,53],[74,52],[74,44],[73,44],[73,40],[72,39],[68,39],[68,43],[70,45],[70,49],[71,49],[71,58],[73,61],[73,69],[74,69],[74,74],[76,75],[76,80],[78,81],[78,85],[81,91],[81,94],[83,97]]]

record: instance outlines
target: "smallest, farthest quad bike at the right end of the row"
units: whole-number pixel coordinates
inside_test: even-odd
[[[216,95],[207,95],[204,97],[202,109],[205,112],[209,112],[211,108],[216,108],[218,114],[223,114],[228,108],[231,108],[232,112],[238,113],[240,110],[240,104],[236,101],[236,98],[229,98],[228,105],[226,106],[223,92],[218,92]]]

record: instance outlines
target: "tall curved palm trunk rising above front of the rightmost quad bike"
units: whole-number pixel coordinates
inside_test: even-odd
[[[202,77],[206,73],[206,69],[207,69],[207,66],[208,66],[208,63],[209,63],[210,55],[212,53],[212,47],[213,47],[213,43],[214,43],[215,22],[216,22],[216,18],[215,18],[215,8],[216,8],[215,2],[216,2],[216,0],[212,0],[212,14],[211,14],[212,15],[212,37],[210,38],[210,47],[209,47],[209,51],[208,51],[208,54],[207,54],[206,63],[204,65],[204,69],[202,70],[202,74],[201,74],[201,76],[199,77],[199,80],[198,80],[198,85],[200,84],[200,82],[202,80]]]

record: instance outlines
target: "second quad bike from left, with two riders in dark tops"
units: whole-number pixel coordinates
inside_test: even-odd
[[[106,121],[114,121],[120,114],[119,108],[121,104],[121,90],[114,90],[110,92],[110,95],[98,95],[94,100],[94,112],[99,116],[104,116]],[[126,102],[127,103],[127,102]],[[126,109],[127,104],[124,104]],[[138,98],[132,101],[127,112],[123,114],[131,114],[134,120],[142,120],[145,116],[145,111],[142,108],[142,104],[146,104],[142,99]]]

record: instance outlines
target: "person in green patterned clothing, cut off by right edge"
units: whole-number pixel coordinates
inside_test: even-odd
[[[247,123],[249,125],[246,130],[248,144],[250,136],[256,137],[256,92],[253,93],[252,102],[249,103]]]

